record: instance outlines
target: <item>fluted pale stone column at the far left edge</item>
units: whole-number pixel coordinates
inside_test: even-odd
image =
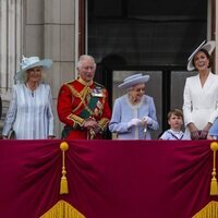
[[[0,94],[10,99],[22,53],[22,0],[0,1]]]

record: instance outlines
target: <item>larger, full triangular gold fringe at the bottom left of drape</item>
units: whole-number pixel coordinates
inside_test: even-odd
[[[51,209],[40,218],[85,218],[77,209],[68,202],[59,201]]]

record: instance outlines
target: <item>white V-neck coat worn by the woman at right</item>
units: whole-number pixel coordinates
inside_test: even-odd
[[[185,126],[193,122],[203,130],[218,117],[218,75],[209,72],[202,86],[199,75],[186,78],[183,94],[183,116]],[[189,130],[186,128],[186,133]]]

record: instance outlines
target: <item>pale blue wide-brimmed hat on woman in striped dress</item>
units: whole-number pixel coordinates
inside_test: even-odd
[[[22,59],[22,70],[16,72],[14,78],[16,81],[23,81],[25,78],[25,72],[32,68],[35,66],[43,66],[44,69],[49,69],[52,65],[52,60],[51,59],[44,59],[40,60],[38,57],[29,57],[25,58],[23,57]]]

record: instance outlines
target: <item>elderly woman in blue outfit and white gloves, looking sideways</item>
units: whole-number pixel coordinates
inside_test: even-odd
[[[118,87],[126,94],[114,101],[109,130],[118,140],[152,140],[150,131],[158,130],[153,97],[145,95],[149,75],[134,74],[124,78]]]

